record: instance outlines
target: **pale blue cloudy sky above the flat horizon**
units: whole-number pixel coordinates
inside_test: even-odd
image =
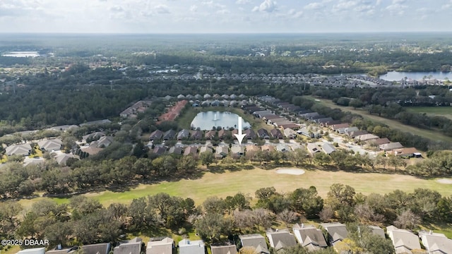
[[[452,31],[452,0],[0,0],[0,32]]]

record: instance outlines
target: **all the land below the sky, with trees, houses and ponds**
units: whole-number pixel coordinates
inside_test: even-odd
[[[451,35],[23,36],[1,254],[452,253]]]

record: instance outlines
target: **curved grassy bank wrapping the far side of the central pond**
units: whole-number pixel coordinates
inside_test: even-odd
[[[191,121],[195,118],[196,114],[199,112],[205,112],[205,111],[230,111],[231,113],[238,114],[239,116],[242,116],[242,119],[244,121],[247,121],[251,124],[251,127],[258,130],[260,128],[265,128],[268,131],[271,130],[271,126],[264,123],[261,119],[258,119],[251,114],[245,114],[245,112],[242,109],[239,108],[233,108],[233,107],[191,107],[188,110],[184,112],[181,116],[179,116],[176,119],[176,122],[180,128],[190,128]]]

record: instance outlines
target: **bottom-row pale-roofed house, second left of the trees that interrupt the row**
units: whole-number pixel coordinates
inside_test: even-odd
[[[293,232],[298,243],[308,250],[319,250],[320,248],[328,247],[322,231],[312,225],[295,224]]]

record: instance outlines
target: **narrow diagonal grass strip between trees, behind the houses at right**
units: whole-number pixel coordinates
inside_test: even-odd
[[[314,99],[314,97],[310,97],[310,96],[307,96],[307,97]],[[424,130],[422,128],[408,126],[408,125],[400,123],[396,120],[386,119],[386,118],[383,118],[380,116],[369,114],[369,112],[367,112],[364,109],[353,109],[352,107],[344,107],[344,106],[336,105],[334,102],[331,102],[331,100],[329,100],[329,99],[319,99],[319,98],[315,98],[315,99],[317,100],[316,101],[317,103],[321,103],[321,104],[325,105],[326,107],[331,107],[333,109],[342,109],[343,111],[350,111],[354,114],[359,114],[359,115],[363,116],[364,119],[369,119],[371,121],[376,121],[378,123],[384,123],[387,126],[390,126],[391,128],[397,129],[399,131],[409,132],[414,135],[420,135],[421,137],[429,138],[430,140],[438,140],[438,141],[441,140],[441,141],[452,142],[452,137],[448,137],[439,131]]]

